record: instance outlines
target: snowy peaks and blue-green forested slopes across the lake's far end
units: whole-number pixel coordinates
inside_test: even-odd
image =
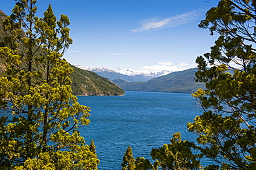
[[[194,80],[197,68],[179,72],[163,70],[162,72],[147,74],[127,69],[111,70],[105,67],[75,66],[109,78],[125,91],[193,93],[199,88],[205,88],[204,83]]]

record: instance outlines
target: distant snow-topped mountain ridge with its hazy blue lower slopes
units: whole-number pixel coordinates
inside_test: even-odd
[[[152,78],[164,76],[171,73],[171,71],[168,71],[168,70],[162,70],[161,72],[144,73],[144,72],[136,72],[134,70],[120,69],[120,68],[111,70],[106,67],[86,67],[84,65],[77,65],[77,64],[75,64],[74,66],[82,70],[96,72],[100,76],[109,78],[109,80],[111,81],[115,79],[122,79],[127,82],[149,81]]]

